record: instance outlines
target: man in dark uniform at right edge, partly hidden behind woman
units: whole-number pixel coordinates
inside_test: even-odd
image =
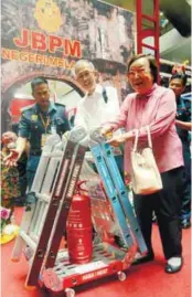
[[[178,135],[183,145],[184,177],[183,177],[183,197],[181,198],[181,226],[188,229],[191,226],[191,151],[190,151],[190,130],[191,124],[191,99],[184,99],[181,94],[186,85],[186,75],[175,73],[172,75],[169,87],[177,97],[177,118],[175,126]]]

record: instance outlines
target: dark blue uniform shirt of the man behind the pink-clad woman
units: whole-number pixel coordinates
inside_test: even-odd
[[[185,123],[191,123],[191,100],[182,96],[177,102],[177,119]],[[189,131],[177,127],[178,135],[181,141],[189,141]]]

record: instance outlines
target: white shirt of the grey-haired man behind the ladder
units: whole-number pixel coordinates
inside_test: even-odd
[[[83,126],[87,131],[100,127],[106,121],[115,119],[119,112],[119,99],[116,88],[111,86],[105,87],[107,94],[107,103],[105,103],[102,85],[96,85],[92,95],[83,97],[77,106],[75,117],[75,126]]]

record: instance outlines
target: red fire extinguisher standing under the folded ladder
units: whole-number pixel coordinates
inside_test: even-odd
[[[84,182],[77,185],[66,222],[68,255],[73,264],[88,263],[93,253],[90,199],[81,188]]]

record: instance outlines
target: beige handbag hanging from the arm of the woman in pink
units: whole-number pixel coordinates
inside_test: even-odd
[[[136,194],[152,194],[162,189],[161,176],[152,153],[152,141],[149,126],[146,127],[148,132],[148,146],[141,151],[138,150],[139,131],[136,130],[134,149],[131,151],[132,166],[132,190]]]

